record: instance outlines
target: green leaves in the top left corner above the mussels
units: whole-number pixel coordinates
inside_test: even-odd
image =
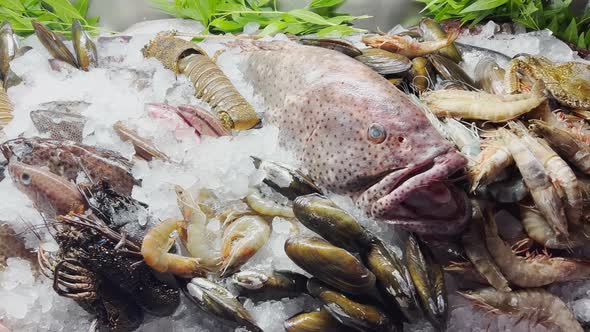
[[[34,33],[31,21],[35,20],[69,38],[76,19],[89,33],[96,33],[99,18],[86,17],[88,5],[89,0],[0,0],[0,22],[8,21],[17,34],[28,36]]]

